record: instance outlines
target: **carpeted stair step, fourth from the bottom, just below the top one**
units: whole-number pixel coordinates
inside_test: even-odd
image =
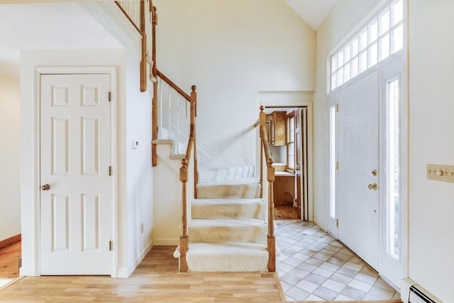
[[[259,198],[260,183],[255,177],[197,184],[199,199]]]

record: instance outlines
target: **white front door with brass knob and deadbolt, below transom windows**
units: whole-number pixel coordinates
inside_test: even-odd
[[[341,88],[338,104],[338,238],[378,270],[378,72]]]

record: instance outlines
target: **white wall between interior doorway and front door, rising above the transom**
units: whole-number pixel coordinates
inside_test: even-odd
[[[326,98],[326,60],[378,0],[343,0],[334,6],[317,30],[316,92],[314,93],[314,221],[326,230],[329,201],[329,121]]]

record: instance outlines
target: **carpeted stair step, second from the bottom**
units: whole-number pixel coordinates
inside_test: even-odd
[[[262,219],[192,219],[189,240],[191,243],[266,243],[267,223]]]

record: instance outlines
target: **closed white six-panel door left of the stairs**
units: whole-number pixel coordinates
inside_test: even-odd
[[[42,275],[110,275],[110,75],[40,76]]]

